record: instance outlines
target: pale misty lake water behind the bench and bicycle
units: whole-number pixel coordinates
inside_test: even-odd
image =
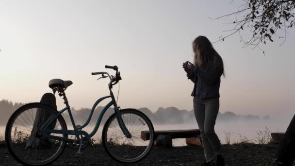
[[[267,127],[271,132],[285,132],[292,117],[276,118],[269,120],[255,120],[255,121],[216,121],[215,132],[217,133],[222,144],[226,143],[226,134],[230,134],[231,143],[247,138],[249,140],[256,139],[258,137],[257,132],[265,131]],[[94,126],[87,126],[84,131],[91,133]],[[98,129],[98,132],[93,136],[95,140],[101,139],[103,124]],[[155,130],[186,130],[186,129],[197,129],[197,122],[190,124],[167,124],[167,125],[156,125],[154,124]],[[68,124],[68,129],[72,127]],[[0,136],[4,137],[5,126],[0,126]],[[241,136],[239,135],[241,134]],[[185,146],[185,139],[173,139],[173,146]]]

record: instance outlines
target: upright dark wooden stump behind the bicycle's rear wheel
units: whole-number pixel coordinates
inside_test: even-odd
[[[54,109],[56,108],[56,99],[55,96],[52,93],[46,93],[42,96],[40,103],[47,104]],[[35,137],[35,133],[39,130],[39,128],[46,122],[49,117],[53,116],[50,114],[47,110],[44,109],[37,109],[35,120],[33,122],[33,129],[31,132],[31,136],[26,144],[26,149],[35,147],[43,147],[43,148],[49,148],[51,146],[49,139],[43,138],[39,139]],[[49,124],[48,129],[54,129],[56,125],[56,119],[52,121],[51,124]]]

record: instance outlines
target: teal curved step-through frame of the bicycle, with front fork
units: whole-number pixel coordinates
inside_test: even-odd
[[[74,118],[72,116],[72,113],[71,113],[71,109],[70,109],[70,106],[67,102],[67,99],[66,99],[66,94],[64,92],[62,92],[62,95],[64,96],[64,100],[65,100],[65,104],[66,104],[66,108],[62,109],[59,111],[59,113],[55,116],[51,116],[41,127],[41,129],[39,130],[40,133],[42,133],[42,135],[44,136],[47,136],[47,137],[50,137],[50,138],[53,138],[53,139],[63,139],[63,140],[66,140],[66,141],[70,141],[71,139],[68,139],[66,137],[61,137],[61,136],[54,136],[54,135],[50,135],[49,133],[59,133],[59,134],[68,134],[68,135],[75,135],[75,136],[79,136],[79,135],[84,135],[86,140],[91,140],[91,137],[97,133],[98,131],[98,128],[99,128],[99,125],[101,123],[101,119],[104,115],[104,113],[108,110],[108,108],[110,108],[112,105],[114,105],[114,109],[115,109],[115,113],[117,114],[117,120],[118,120],[118,124],[121,128],[121,130],[123,131],[123,133],[126,135],[126,136],[129,136],[131,135],[127,129],[127,127],[125,126],[124,124],[124,121],[122,119],[122,116],[121,116],[121,112],[120,112],[120,108],[116,105],[116,102],[115,102],[115,97],[114,97],[114,94],[112,92],[112,90],[110,89],[110,96],[106,96],[106,97],[102,97],[100,99],[98,99],[92,109],[91,109],[91,112],[90,112],[90,115],[88,116],[88,119],[87,121],[85,122],[85,124],[83,124],[82,126],[80,127],[76,127],[76,124],[75,124],[75,121],[74,121]],[[95,110],[95,108],[97,107],[97,105],[102,101],[102,100],[105,100],[105,99],[108,99],[108,98],[111,98],[112,100],[102,109],[101,113],[99,114],[98,116],[98,120],[97,120],[97,123],[93,129],[93,131],[88,134],[87,132],[85,131],[82,131],[82,129],[84,127],[86,127],[90,120],[91,120],[91,117],[93,115],[93,112]],[[52,129],[47,129],[47,127],[49,126],[49,124],[54,120],[56,119],[58,116],[60,116],[63,112],[65,111],[68,111],[68,114],[70,116],[70,119],[71,119],[71,123],[73,125],[73,129],[74,130],[52,130]]]

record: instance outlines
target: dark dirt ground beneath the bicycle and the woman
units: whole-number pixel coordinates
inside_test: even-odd
[[[278,144],[236,144],[223,145],[228,166],[268,166],[275,159]],[[77,150],[66,149],[52,166],[123,166],[113,161],[100,145],[88,147],[83,155],[76,155]],[[147,158],[132,166],[198,166],[204,161],[202,147],[184,146],[173,148],[155,148]],[[8,149],[0,148],[0,165],[19,166]]]

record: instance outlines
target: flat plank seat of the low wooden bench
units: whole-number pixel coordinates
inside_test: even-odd
[[[172,139],[174,138],[189,138],[200,134],[199,129],[190,130],[165,130],[165,131],[155,131],[155,138],[158,135],[169,135]],[[140,137],[143,140],[149,140],[149,131],[142,131]]]

